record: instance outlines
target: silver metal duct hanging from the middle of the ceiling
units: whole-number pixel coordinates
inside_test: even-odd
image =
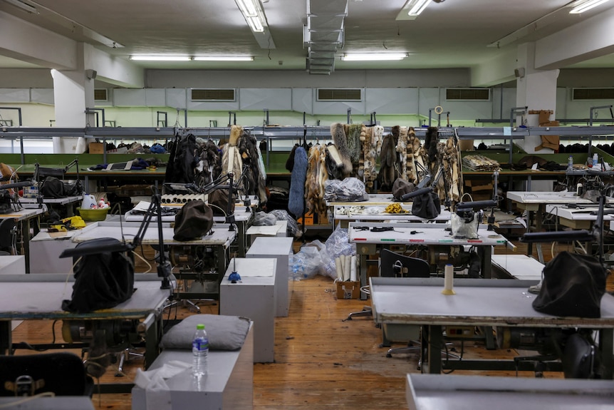
[[[307,0],[303,45],[308,49],[310,74],[335,71],[335,54],[343,47],[343,21],[347,15],[348,0]]]

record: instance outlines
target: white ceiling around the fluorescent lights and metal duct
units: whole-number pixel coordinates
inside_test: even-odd
[[[303,46],[306,0],[263,3],[276,48],[260,48],[233,0],[24,0],[38,9],[28,14],[0,0],[0,11],[14,14],[59,34],[95,43],[128,58],[132,53],[236,54],[254,61],[212,63],[133,62],[143,68],[305,69]],[[570,0],[435,1],[415,20],[397,20],[405,0],[349,0],[345,42],[335,71],[370,68],[466,68],[488,61],[519,43],[534,41],[614,7],[614,1],[584,14],[568,14]],[[71,21],[73,23],[71,23]],[[548,24],[543,24],[543,22]],[[542,27],[543,26],[543,27]],[[535,30],[535,27],[540,29]],[[111,48],[93,41],[100,34],[122,44]],[[524,30],[516,41],[489,46]],[[18,39],[16,39],[18,41]],[[344,62],[342,53],[402,51],[398,62]],[[0,68],[32,68],[31,63],[1,57]],[[604,56],[574,67],[614,68]],[[561,67],[563,68],[563,67]]]

